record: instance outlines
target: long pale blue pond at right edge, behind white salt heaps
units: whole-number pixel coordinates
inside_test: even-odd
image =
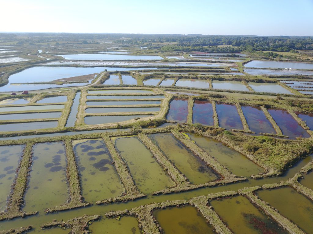
[[[292,69],[313,69],[312,63],[303,62],[278,62],[278,61],[257,61],[253,60],[244,65],[255,68],[292,68]]]

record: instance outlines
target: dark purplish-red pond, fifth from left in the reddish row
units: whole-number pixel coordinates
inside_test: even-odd
[[[275,109],[268,109],[268,111],[285,136],[289,136],[290,139],[295,139],[296,137],[310,137],[288,111]]]

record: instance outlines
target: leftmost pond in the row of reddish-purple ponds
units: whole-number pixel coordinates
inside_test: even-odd
[[[175,98],[170,102],[170,108],[166,116],[167,120],[178,123],[186,123],[188,115],[188,100]]]

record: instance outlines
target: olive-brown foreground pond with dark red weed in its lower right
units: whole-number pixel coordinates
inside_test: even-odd
[[[273,219],[251,204],[246,197],[237,196],[213,200],[210,205],[234,233],[288,233]]]

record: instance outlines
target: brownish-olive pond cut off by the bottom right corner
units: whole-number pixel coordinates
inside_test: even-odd
[[[313,202],[305,196],[289,187],[261,190],[256,194],[278,209],[281,215],[295,222],[303,231],[313,233]]]

